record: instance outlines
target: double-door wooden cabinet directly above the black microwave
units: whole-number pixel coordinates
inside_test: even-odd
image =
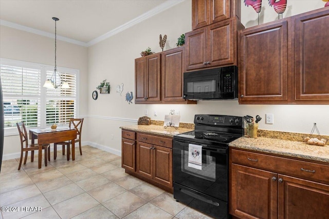
[[[186,70],[237,65],[236,17],[186,33]]]

